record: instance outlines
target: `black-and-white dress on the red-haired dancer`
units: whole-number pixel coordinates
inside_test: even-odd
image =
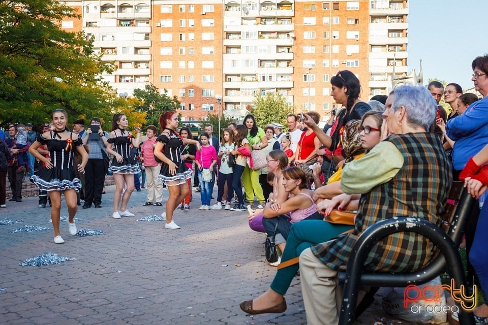
[[[166,129],[169,130],[170,137],[168,138],[167,135],[162,134],[156,141],[164,143],[164,155],[176,165],[176,174],[171,175],[168,164],[163,163],[161,165],[161,172],[158,175],[158,178],[161,179],[166,185],[186,184],[187,179],[192,177],[193,172],[192,170],[188,169],[187,165],[181,158],[181,152],[185,148],[185,144],[172,129],[167,127]],[[178,183],[168,184],[168,182],[174,181],[178,181]]]

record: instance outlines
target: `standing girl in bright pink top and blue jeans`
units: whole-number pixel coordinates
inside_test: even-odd
[[[210,210],[210,199],[212,197],[212,181],[203,180],[203,170],[208,170],[210,173],[214,170],[217,164],[217,152],[215,148],[210,145],[208,139],[210,135],[206,132],[200,135],[202,142],[201,150],[197,151],[195,156],[195,164],[197,165],[198,180],[200,181],[200,198],[202,205],[199,210]]]

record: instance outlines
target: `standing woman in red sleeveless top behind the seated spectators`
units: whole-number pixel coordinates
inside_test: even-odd
[[[317,112],[307,113],[315,123],[319,123],[320,114]],[[296,147],[296,159],[295,166],[299,167],[307,175],[307,188],[310,188],[310,184],[314,181],[313,170],[309,166],[317,162],[317,150],[321,146],[319,138],[317,138],[313,129],[308,128],[306,132],[301,134],[300,140]]]

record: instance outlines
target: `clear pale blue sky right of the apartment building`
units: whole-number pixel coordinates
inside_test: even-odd
[[[488,54],[486,0],[410,0],[408,72],[418,73],[422,59],[423,83],[439,78],[473,87],[471,62]]]

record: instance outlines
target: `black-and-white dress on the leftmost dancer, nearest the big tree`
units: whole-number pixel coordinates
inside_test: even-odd
[[[44,138],[42,134],[36,139],[41,145],[47,144],[49,157],[53,164],[50,169],[45,166],[39,168],[39,171],[31,177],[31,181],[39,186],[40,190],[63,191],[74,188],[77,192],[80,191],[81,183],[76,177],[73,155],[76,148],[83,143],[80,138],[73,141],[73,133],[69,138],[61,139],[58,133],[64,132],[51,131],[50,139]]]

